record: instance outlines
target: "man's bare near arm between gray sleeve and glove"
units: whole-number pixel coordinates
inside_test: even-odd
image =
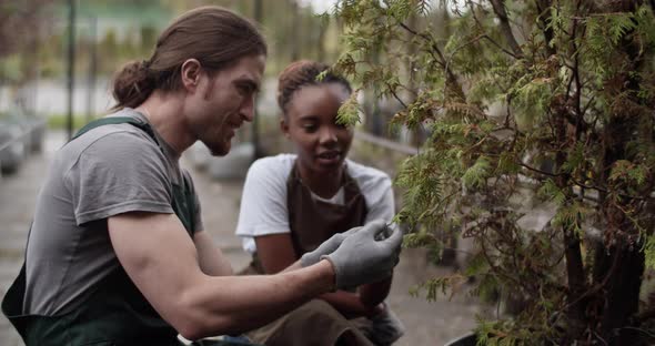
[[[279,275],[209,276],[174,214],[127,213],[108,225],[130,278],[188,339],[262,326],[334,286],[328,261]]]

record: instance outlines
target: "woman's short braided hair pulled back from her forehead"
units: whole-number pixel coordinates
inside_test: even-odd
[[[326,71],[321,80],[316,80],[319,74]],[[280,73],[278,82],[278,104],[282,110],[282,113],[286,114],[286,108],[293,93],[305,85],[319,85],[326,83],[340,83],[349,93],[352,92],[352,88],[347,80],[340,74],[334,73],[329,65],[310,61],[299,60],[288,65],[282,73]]]

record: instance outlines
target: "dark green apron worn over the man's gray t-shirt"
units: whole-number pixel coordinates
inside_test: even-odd
[[[130,123],[158,142],[148,123],[130,116],[103,118],[93,121],[80,130],[72,140],[93,128],[118,123]],[[172,207],[189,235],[193,236],[195,232],[194,192],[188,176],[182,175],[183,184],[181,186],[173,184]],[[104,278],[98,287],[98,291],[72,312],[58,316],[23,315],[26,291],[26,264],[23,263],[18,278],[2,301],[2,313],[18,329],[28,346],[179,345],[178,332],[154,311],[122,266]]]

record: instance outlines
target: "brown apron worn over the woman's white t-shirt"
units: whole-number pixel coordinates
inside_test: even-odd
[[[344,204],[316,201],[302,183],[296,165],[286,180],[286,207],[295,257],[315,250],[335,233],[361,226],[366,220],[366,201],[357,183],[344,170]],[[244,274],[263,274],[256,254]],[[360,330],[360,320],[349,320],[322,299],[313,299],[273,323],[248,333],[255,343],[269,346],[333,346],[345,334],[357,345],[373,345]]]

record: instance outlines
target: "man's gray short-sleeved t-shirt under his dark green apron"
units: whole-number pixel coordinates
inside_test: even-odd
[[[110,116],[147,119],[131,109]],[[182,184],[177,153],[155,133],[128,123],[90,130],[54,156],[39,193],[27,248],[23,312],[71,311],[120,263],[107,217],[127,212],[172,214],[172,184]],[[202,230],[195,196],[196,231]],[[148,230],[133,230],[148,232]]]

